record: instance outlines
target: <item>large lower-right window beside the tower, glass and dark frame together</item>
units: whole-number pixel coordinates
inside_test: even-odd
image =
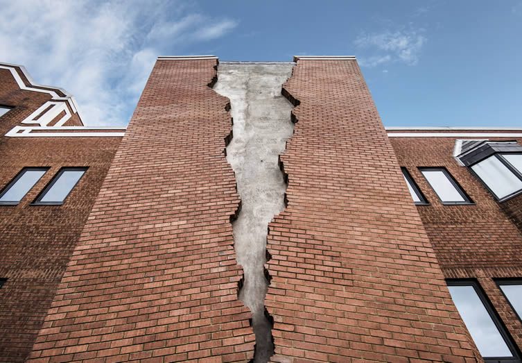
[[[519,362],[501,320],[473,280],[449,280],[453,303],[486,362]]]

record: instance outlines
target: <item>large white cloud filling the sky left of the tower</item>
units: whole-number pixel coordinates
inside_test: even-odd
[[[238,25],[182,0],[0,0],[0,7],[0,61],[74,94],[87,125],[126,124],[157,56]]]

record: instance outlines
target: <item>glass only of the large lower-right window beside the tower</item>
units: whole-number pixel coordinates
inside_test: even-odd
[[[449,286],[449,292],[482,357],[512,357],[473,286]]]

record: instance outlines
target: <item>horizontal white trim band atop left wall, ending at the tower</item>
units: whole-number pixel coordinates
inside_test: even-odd
[[[122,137],[125,135],[126,127],[113,126],[15,126],[6,136],[8,137]],[[53,130],[53,133],[32,133],[38,130]],[[66,132],[61,132],[66,130]],[[85,132],[70,133],[67,130],[82,130]],[[97,131],[100,132],[97,132]],[[118,130],[122,132],[109,133],[108,130]],[[21,132],[20,132],[21,131]]]

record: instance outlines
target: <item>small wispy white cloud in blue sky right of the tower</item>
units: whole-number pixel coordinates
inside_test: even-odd
[[[403,62],[417,65],[426,37],[420,30],[385,31],[383,33],[360,34],[354,44],[359,49],[369,50],[369,56],[360,57],[366,67],[375,67],[388,62]]]

